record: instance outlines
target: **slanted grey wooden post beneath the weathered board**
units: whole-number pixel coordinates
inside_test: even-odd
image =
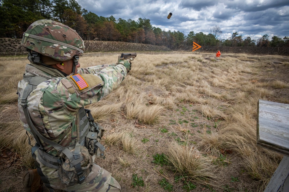
[[[289,157],[284,156],[264,192],[287,192],[289,190]]]

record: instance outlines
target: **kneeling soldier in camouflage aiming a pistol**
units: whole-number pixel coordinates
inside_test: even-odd
[[[30,64],[18,83],[18,108],[36,141],[32,157],[40,166],[23,173],[25,191],[41,191],[40,177],[50,191],[121,191],[111,173],[94,163],[105,158],[104,130],[84,106],[117,88],[133,58],[77,71],[84,41],[52,20],[32,23],[22,45]]]

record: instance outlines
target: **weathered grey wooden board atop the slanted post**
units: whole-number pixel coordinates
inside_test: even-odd
[[[289,104],[258,100],[257,145],[289,156]]]

